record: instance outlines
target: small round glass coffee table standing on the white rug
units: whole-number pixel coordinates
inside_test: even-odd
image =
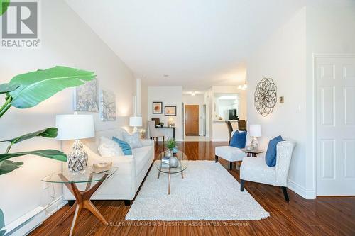
[[[178,167],[169,167],[169,164],[165,164],[162,162],[163,157],[165,156],[165,152],[161,152],[159,154],[158,161],[155,162],[155,167],[158,169],[158,179],[160,177],[160,173],[168,174],[168,194],[170,194],[170,174],[178,174],[181,173],[181,178],[184,179],[184,170],[187,168],[187,156],[184,152],[180,150],[174,154],[174,157],[178,158]],[[171,158],[171,157],[170,157]]]

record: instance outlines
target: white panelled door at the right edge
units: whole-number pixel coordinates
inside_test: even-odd
[[[355,195],[355,57],[316,57],[317,196]]]

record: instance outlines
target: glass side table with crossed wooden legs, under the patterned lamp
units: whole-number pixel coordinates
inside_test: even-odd
[[[43,182],[48,183],[58,183],[65,184],[67,189],[70,190],[73,196],[75,196],[74,205],[65,213],[65,215],[58,221],[58,225],[62,224],[72,213],[75,212],[74,218],[72,219],[72,227],[70,228],[70,235],[73,235],[75,230],[75,225],[79,218],[80,212],[82,209],[89,210],[93,215],[96,216],[102,223],[107,225],[105,218],[99,213],[99,210],[92,204],[90,198],[92,194],[99,189],[99,186],[106,180],[109,179],[118,169],[118,167],[111,167],[107,172],[102,172],[99,174],[90,173],[89,170],[91,167],[87,167],[86,171],[82,174],[75,173],[73,174],[67,168],[62,172],[55,172],[46,176],[42,179]],[[94,186],[91,186],[92,183],[95,183]],[[79,190],[77,184],[86,183],[85,189],[83,191]]]

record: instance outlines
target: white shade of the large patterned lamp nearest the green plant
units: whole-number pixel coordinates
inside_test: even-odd
[[[58,128],[58,140],[80,140],[95,136],[92,115],[57,115],[55,126]]]

